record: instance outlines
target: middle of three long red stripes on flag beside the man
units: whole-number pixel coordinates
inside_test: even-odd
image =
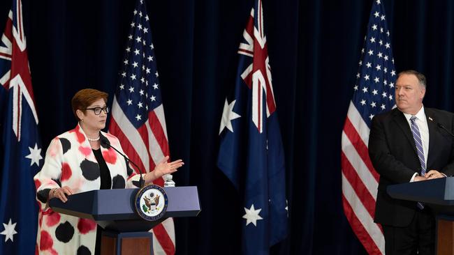
[[[344,154],[344,151],[341,152],[341,162],[342,162],[342,173],[344,173],[345,178],[349,181],[353,190],[355,190],[356,196],[360,199],[363,206],[366,208],[369,215],[374,218],[375,215],[375,199],[367,190],[366,186],[361,180],[358,173],[355,171],[349,160]]]

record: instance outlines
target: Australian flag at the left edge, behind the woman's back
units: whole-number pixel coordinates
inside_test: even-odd
[[[13,1],[0,40],[0,254],[35,254],[41,167],[38,116],[31,88],[22,3]]]

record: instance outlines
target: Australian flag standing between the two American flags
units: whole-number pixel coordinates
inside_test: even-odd
[[[272,90],[261,0],[238,49],[233,93],[226,98],[217,165],[240,194],[242,253],[268,254],[287,234],[284,149]]]

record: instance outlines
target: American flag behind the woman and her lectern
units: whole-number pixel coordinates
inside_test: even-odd
[[[119,86],[112,102],[109,132],[140,169],[152,171],[169,155],[166,119],[147,8],[137,1],[128,36]],[[154,181],[163,186],[163,179]],[[154,254],[175,254],[173,219],[152,230]]]

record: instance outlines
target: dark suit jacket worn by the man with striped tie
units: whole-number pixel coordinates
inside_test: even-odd
[[[446,176],[454,175],[454,139],[444,125],[454,132],[454,114],[439,109],[424,108],[429,127],[429,154],[426,169],[438,170]],[[375,222],[389,226],[409,226],[416,202],[392,199],[386,187],[397,183],[409,183],[415,172],[420,173],[411,128],[402,111],[395,108],[372,119],[369,134],[369,157],[380,174],[376,196]]]

